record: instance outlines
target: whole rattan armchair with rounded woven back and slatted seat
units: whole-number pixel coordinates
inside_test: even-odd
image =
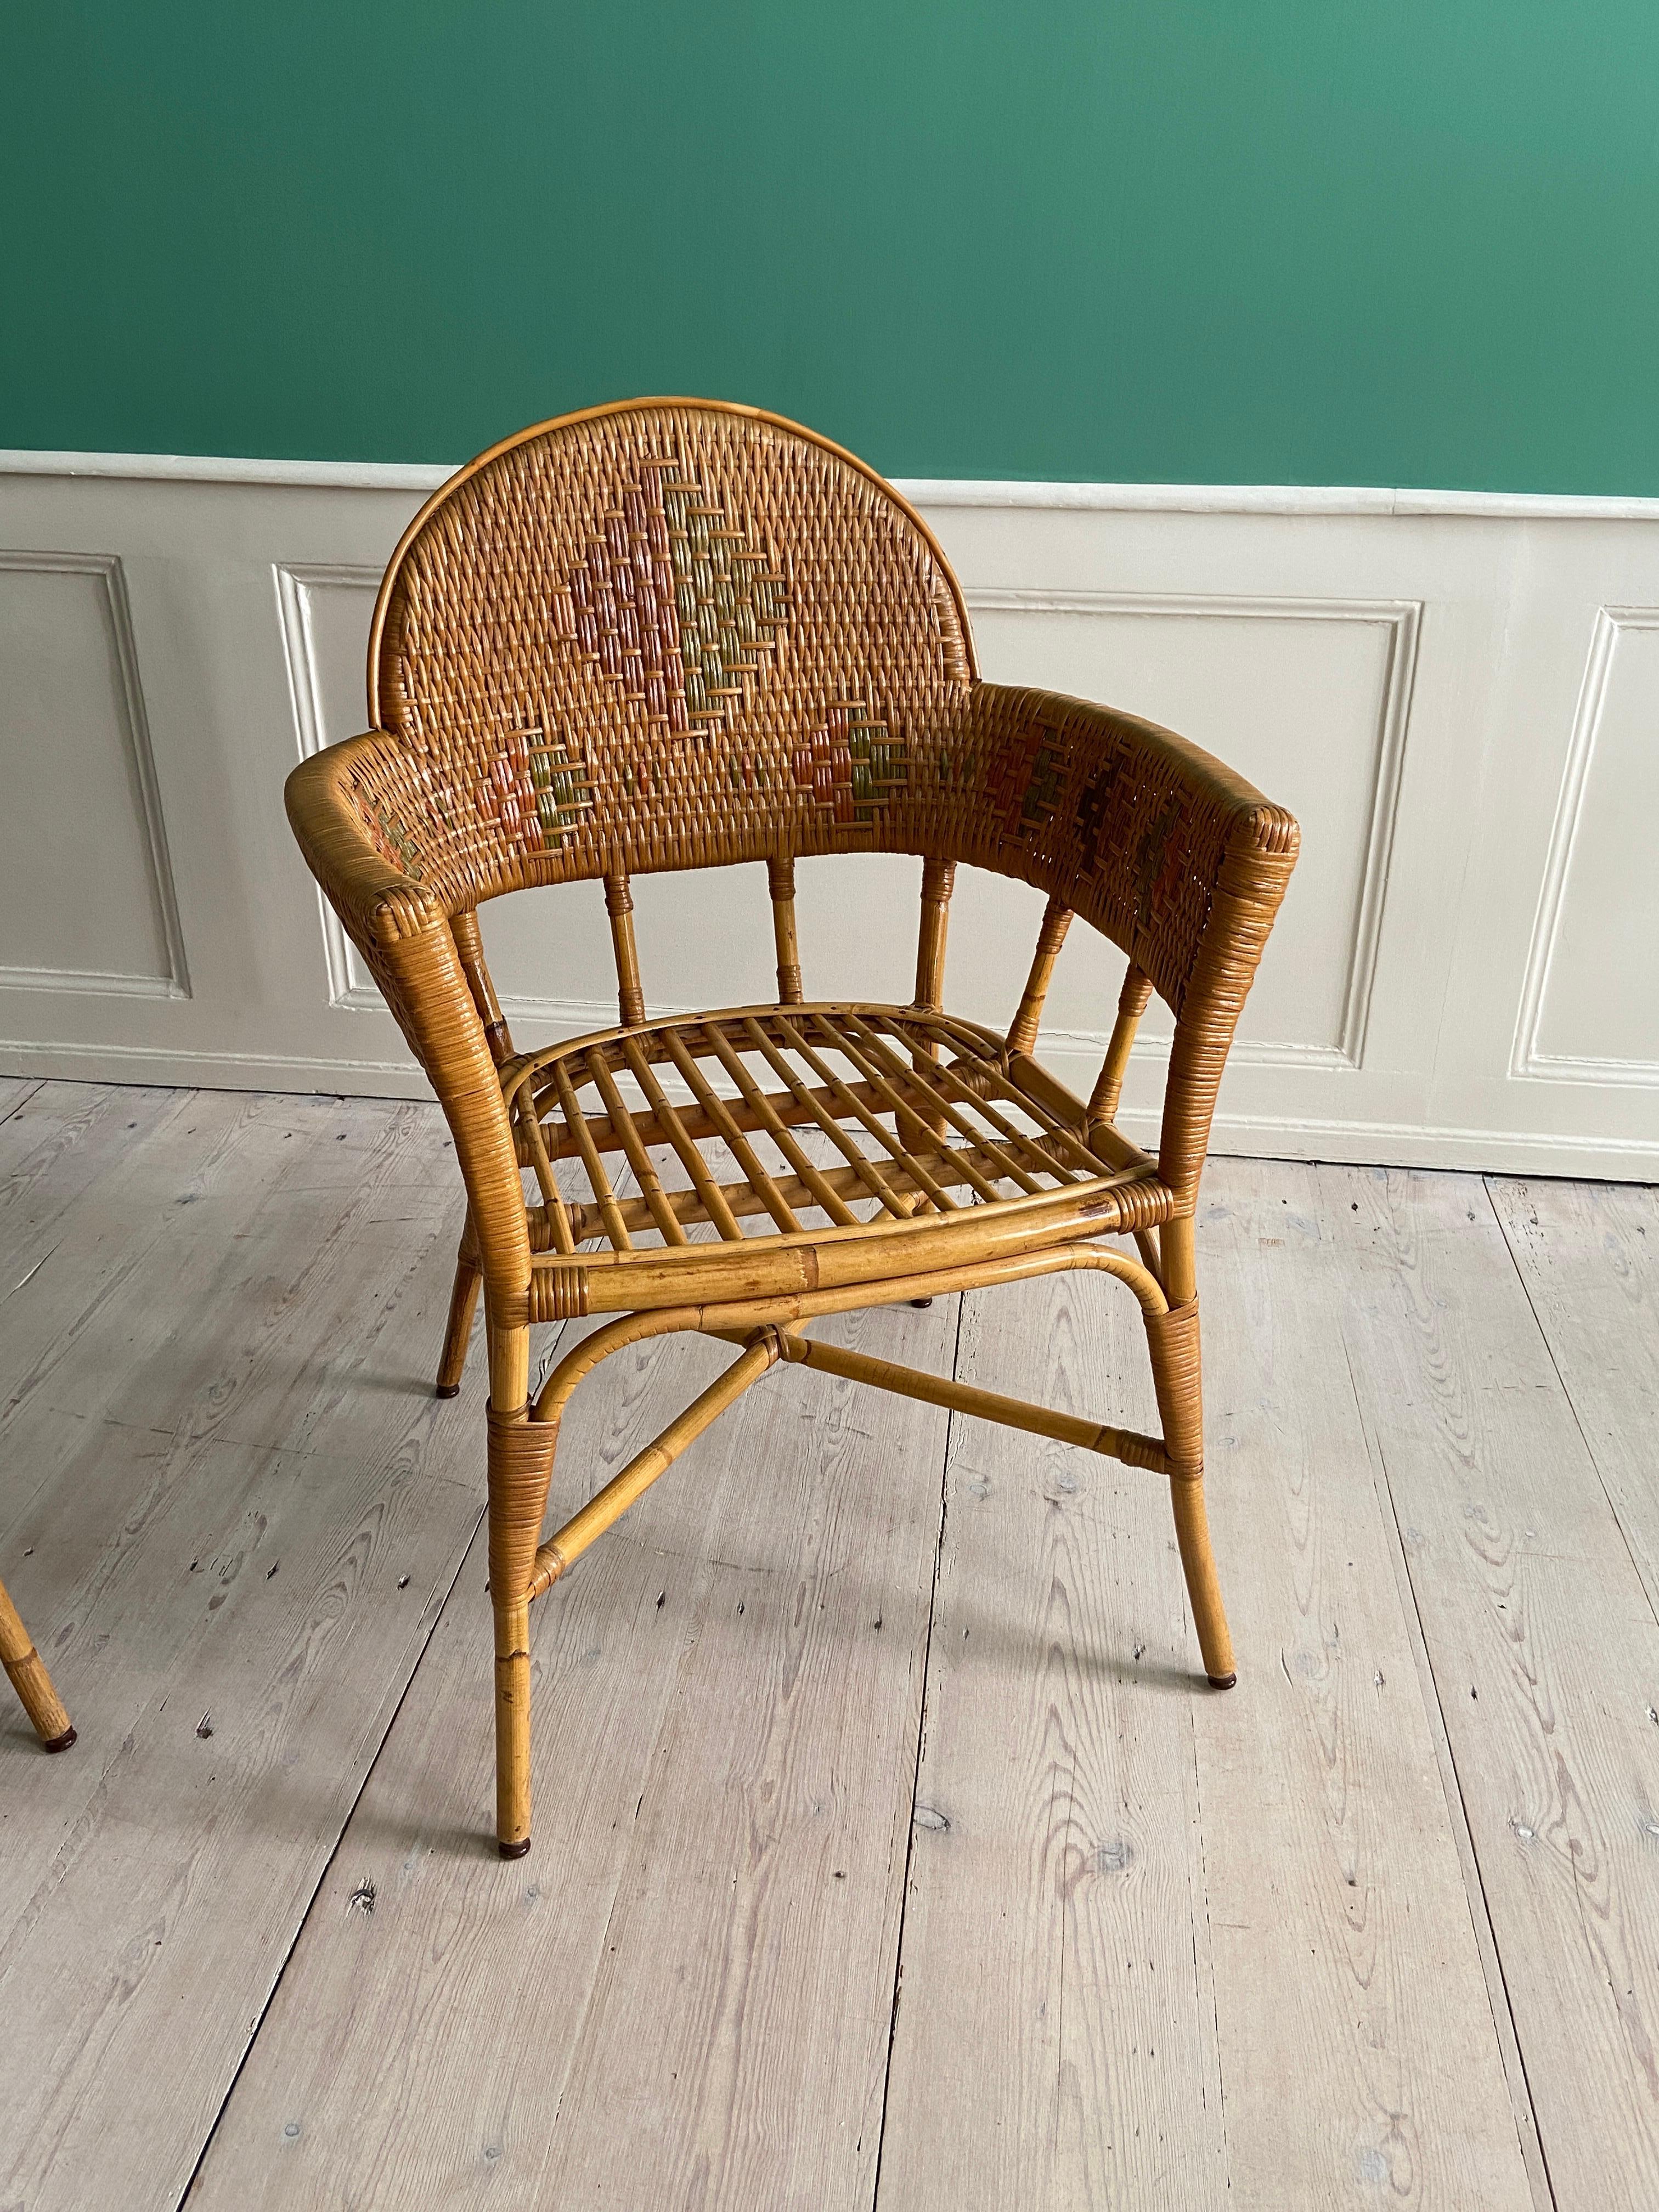
[[[438,1391],[460,1385],[482,1283],[502,1856],[531,1834],[531,1601],[776,1360],[1168,1475],[1203,1668],[1228,1688],[1192,1212],[1296,856],[1290,814],[1130,714],[982,684],[962,593],[905,500],[812,431],[703,400],[564,416],[451,478],[380,586],[369,721],[294,770],[288,812],[431,1077],[467,1183]],[[916,998],[810,1000],[794,863],[872,849],[922,863]],[[765,863],[776,1000],[653,1022],[630,876],[739,860]],[[945,1011],[962,863],[1048,896],[1006,1035]],[[476,909],[595,876],[619,1024],[524,1051]],[[1073,916],[1128,956],[1086,1102],[1035,1057]],[[1157,1157],[1115,1128],[1152,991],[1175,1015]],[[1139,1301],[1161,1436],[803,1332],[1068,1267]],[[531,1327],[591,1314],[611,1318],[531,1400]],[[571,1391],[670,1329],[739,1356],[544,1540]]]

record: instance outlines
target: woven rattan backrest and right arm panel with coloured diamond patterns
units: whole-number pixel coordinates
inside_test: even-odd
[[[369,714],[396,743],[343,799],[451,916],[535,883],[907,852],[1062,900],[1177,1015],[1228,838],[1265,825],[1168,732],[980,684],[898,493],[703,400],[564,416],[445,484],[380,586]]]

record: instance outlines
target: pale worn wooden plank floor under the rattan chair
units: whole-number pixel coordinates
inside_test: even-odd
[[[776,1371],[538,1608],[518,1865],[458,1212],[431,1108],[0,1082],[0,2205],[1659,2203],[1655,1192],[1212,1161],[1228,1697],[1155,1478]],[[1155,1420],[1099,1279],[818,1329]]]

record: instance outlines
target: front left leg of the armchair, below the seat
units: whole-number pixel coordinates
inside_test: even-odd
[[[522,1345],[515,1343],[522,1338]],[[524,1402],[529,1329],[489,1345],[489,1604],[495,1615],[495,1838],[502,1858],[531,1847],[531,1575],[553,1482],[557,1422],[531,1420]],[[493,1398],[518,1383],[518,1405]]]

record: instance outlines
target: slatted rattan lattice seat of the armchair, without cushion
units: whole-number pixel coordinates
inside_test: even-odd
[[[1168,1212],[1157,1164],[1091,1133],[1031,1055],[914,1006],[679,1015],[520,1053],[500,1079],[540,1186],[533,1321],[880,1283],[951,1265],[964,1228],[978,1259]],[[560,1190],[560,1161],[586,1197]],[[688,1237],[697,1223],[721,1243]],[[593,1239],[606,1250],[580,1254]]]

